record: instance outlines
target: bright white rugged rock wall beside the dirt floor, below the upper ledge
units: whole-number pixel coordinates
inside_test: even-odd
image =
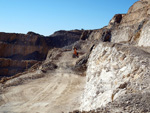
[[[85,91],[82,97],[81,109],[90,111],[99,107],[106,107],[108,103],[113,102],[120,96],[126,98],[124,101],[117,100],[121,103],[133,100],[134,97],[128,98],[129,95],[144,95],[140,107],[136,103],[127,110],[136,109],[150,111],[147,99],[150,96],[150,54],[132,46],[122,44],[100,43],[93,49],[88,60],[87,78]],[[147,104],[144,104],[144,102]],[[114,112],[116,112],[114,110]]]

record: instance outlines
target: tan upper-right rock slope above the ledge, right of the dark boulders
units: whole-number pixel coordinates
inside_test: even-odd
[[[120,24],[113,26],[111,42],[141,46],[144,40],[143,37],[148,34],[146,26],[149,25],[149,8],[150,4],[146,0],[138,1],[132,5],[128,13],[123,16]],[[142,34],[142,37],[139,37],[140,33],[146,34]],[[144,45],[148,46],[149,42],[145,40]]]

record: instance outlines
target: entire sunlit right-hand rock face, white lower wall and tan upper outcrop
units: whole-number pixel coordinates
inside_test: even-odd
[[[149,0],[140,0],[91,33],[102,42],[88,60],[81,110],[150,112],[149,8]]]

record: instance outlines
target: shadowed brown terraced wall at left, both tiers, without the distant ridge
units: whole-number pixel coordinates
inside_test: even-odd
[[[48,50],[44,36],[39,34],[0,33],[0,77],[23,72],[44,60]]]

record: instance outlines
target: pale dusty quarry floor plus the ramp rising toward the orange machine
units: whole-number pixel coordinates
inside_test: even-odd
[[[72,58],[72,54],[71,50],[54,49],[42,65],[52,62],[57,69],[44,73],[39,67],[7,81],[7,88],[0,92],[0,113],[68,113],[79,109],[86,77],[72,67],[84,54],[79,58]]]

